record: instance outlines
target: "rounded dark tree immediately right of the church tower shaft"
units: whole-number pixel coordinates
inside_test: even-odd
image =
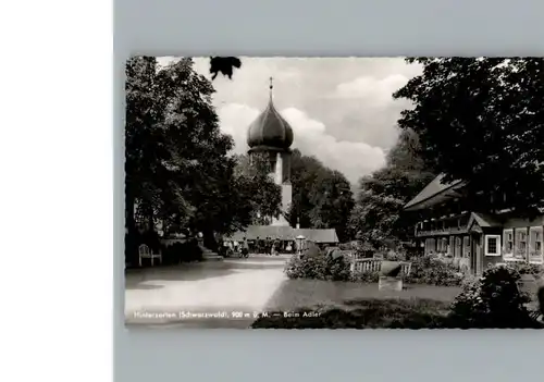
[[[293,150],[290,174],[290,224],[299,222],[300,227],[335,229],[338,238],[346,241],[355,205],[346,177],[297,149]]]

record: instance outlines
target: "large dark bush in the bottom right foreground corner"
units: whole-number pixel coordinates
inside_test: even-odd
[[[524,307],[529,298],[518,288],[520,278],[516,267],[489,268],[465,283],[450,319],[461,328],[540,328]]]

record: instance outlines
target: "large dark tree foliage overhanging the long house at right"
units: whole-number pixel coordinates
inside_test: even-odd
[[[394,94],[413,102],[398,121],[446,181],[469,182],[474,209],[530,213],[544,199],[544,60],[408,59],[421,75]]]

